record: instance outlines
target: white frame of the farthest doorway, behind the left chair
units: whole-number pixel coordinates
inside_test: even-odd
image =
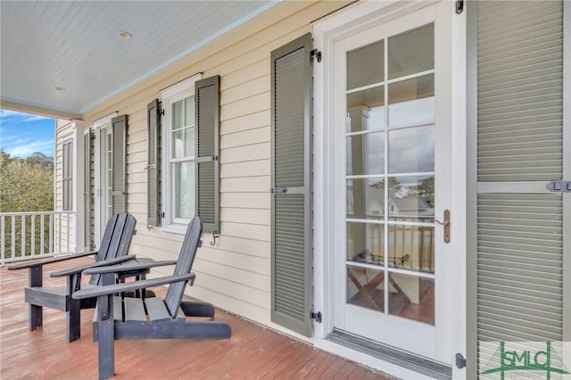
[[[104,189],[101,188],[102,186],[102,168],[101,165],[103,163],[101,157],[101,145],[102,145],[102,138],[103,135],[106,133],[107,128],[111,128],[111,120],[117,116],[117,112],[113,112],[107,116],[104,116],[101,119],[95,120],[93,123],[93,129],[95,134],[95,144],[94,144],[94,178],[95,178],[95,186],[94,186],[94,208],[95,208],[95,216],[94,216],[94,240],[95,240],[95,249],[99,248],[101,244],[101,237],[103,235],[103,230],[105,228],[106,220],[102,220],[101,210],[103,207],[102,204],[102,194]]]

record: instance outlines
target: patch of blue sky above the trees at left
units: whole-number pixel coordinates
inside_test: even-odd
[[[0,148],[12,157],[41,152],[54,156],[55,120],[45,116],[0,110]]]

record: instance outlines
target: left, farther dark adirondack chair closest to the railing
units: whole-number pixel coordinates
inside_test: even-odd
[[[29,285],[24,289],[24,300],[29,303],[29,330],[43,325],[43,308],[62,310],[67,313],[67,341],[73,342],[81,336],[81,309],[95,308],[96,299],[81,301],[71,298],[71,293],[80,288],[101,284],[101,276],[91,277],[88,284],[81,284],[81,272],[98,265],[112,265],[131,260],[135,256],[127,255],[131,238],[135,233],[137,219],[130,214],[118,214],[109,219],[99,251],[77,253],[70,256],[54,257],[45,260],[32,260],[9,267],[9,270],[29,268]],[[43,268],[47,264],[63,260],[72,260],[95,254],[95,262],[74,268],[58,270],[51,277],[67,277],[67,286],[43,286]]]

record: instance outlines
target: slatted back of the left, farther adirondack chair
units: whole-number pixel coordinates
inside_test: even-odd
[[[95,261],[126,256],[135,233],[135,226],[137,219],[128,213],[120,213],[109,219]],[[101,285],[100,278],[100,275],[92,276],[89,284]]]

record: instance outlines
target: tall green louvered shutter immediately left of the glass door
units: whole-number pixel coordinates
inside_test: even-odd
[[[271,320],[312,335],[311,36],[271,53]]]

